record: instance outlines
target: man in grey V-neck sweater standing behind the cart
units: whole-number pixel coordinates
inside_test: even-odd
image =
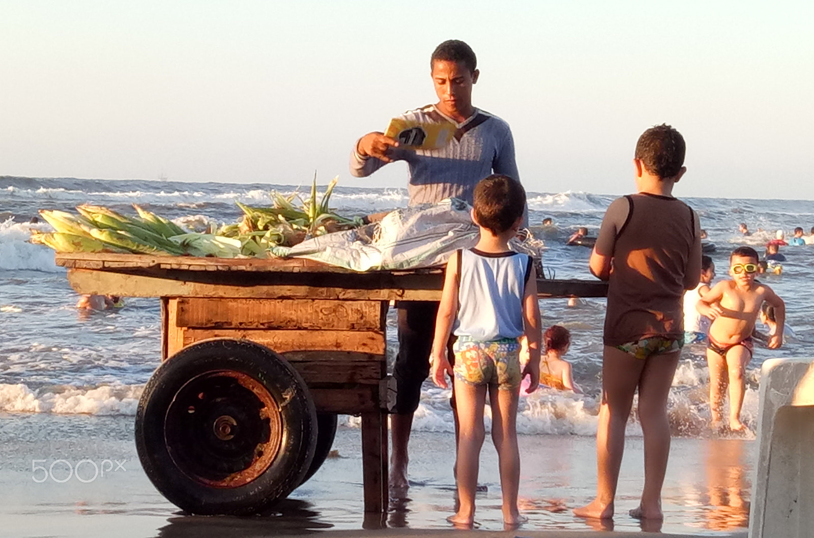
[[[452,140],[433,150],[402,147],[383,133],[367,133],[357,141],[351,155],[353,176],[366,177],[387,163],[405,160],[409,168],[409,205],[438,203],[455,197],[472,203],[475,185],[492,173],[519,179],[514,161],[514,140],[509,125],[472,106],[472,85],[478,81],[475,53],[465,42],[449,40],[435,48],[430,59],[432,83],[438,103],[401,115],[422,123],[451,121]],[[396,408],[391,416],[392,457],[390,487],[405,489],[407,445],[418,409],[421,385],[430,371],[429,356],[438,303],[402,302],[398,306],[399,352]]]

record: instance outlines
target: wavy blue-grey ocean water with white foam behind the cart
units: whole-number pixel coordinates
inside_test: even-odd
[[[133,416],[144,384],[160,363],[158,300],[128,298],[125,308],[116,311],[77,311],[74,305],[78,295],[68,286],[64,269],[55,265],[53,252],[27,241],[32,228],[49,230],[45,223],[29,223],[37,210],[70,211],[81,203],[94,203],[133,213],[130,204],[138,203],[179,224],[202,228],[208,222],[235,221],[240,215],[235,201],[270,204],[272,190],[282,194],[295,190],[305,193],[308,186],[0,177],[2,420],[14,423],[37,413],[76,416],[78,420],[82,420],[81,415]],[[676,194],[681,195],[680,186]],[[532,231],[545,240],[544,265],[549,277],[593,278],[587,266],[589,249],[567,247],[564,239],[580,225],[587,226],[595,235],[614,198],[580,192],[528,193]],[[331,205],[339,212],[361,215],[404,207],[407,201],[405,189],[349,188],[340,184]],[[733,247],[740,244],[760,247],[774,236],[775,230],[790,234],[795,226],[808,230],[814,225],[814,202],[809,201],[685,201],[698,211],[702,228],[716,243],[717,251],[712,257],[720,275],[726,272],[724,268]],[[535,226],[544,217],[554,219],[553,230]],[[741,221],[755,234],[746,238],[737,234]],[[804,292],[807,282],[814,281],[814,247],[785,247],[783,252],[788,261],[782,275],[766,275],[763,280],[786,300],[787,322],[796,337],[779,350],[755,348],[748,367],[743,407],[744,422],[752,431],[756,429],[761,362],[777,356],[810,356],[814,343],[814,322],[809,315],[814,299]],[[571,351],[566,358],[573,363],[575,381],[585,394],[541,389],[524,396],[519,408],[519,431],[530,436],[589,438],[597,428],[605,300],[579,300],[574,307],[568,307],[562,299],[541,300],[540,306],[544,326],[557,323],[571,330]],[[388,323],[392,328],[388,333],[392,359],[396,347],[393,312]],[[707,428],[707,391],[704,349],[689,346],[683,352],[668,404],[674,435],[696,440],[720,437]],[[449,391],[425,383],[414,431],[444,436],[452,432],[448,398]],[[359,422],[357,418],[342,417],[340,424],[352,429]],[[634,439],[641,436],[635,419],[630,422],[628,434]],[[593,461],[586,465],[593,469]]]

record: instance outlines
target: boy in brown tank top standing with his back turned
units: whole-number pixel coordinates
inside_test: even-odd
[[[684,345],[685,290],[698,286],[698,215],[673,198],[684,175],[685,142],[659,125],[639,138],[633,165],[636,195],[614,200],[602,221],[590,269],[608,286],[602,406],[597,428],[597,496],[574,510],[611,518],[633,395],[645,437],[645,486],[634,518],[663,518],[661,489],[670,452],[667,395]]]

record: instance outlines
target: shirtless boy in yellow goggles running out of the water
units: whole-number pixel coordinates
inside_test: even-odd
[[[698,300],[698,313],[712,320],[707,364],[710,369],[710,413],[712,425],[718,427],[724,404],[724,391],[729,385],[729,428],[743,431],[741,408],[746,383],[743,372],[752,359],[752,333],[764,301],[774,307],[777,327],[766,344],[777,349],[783,343],[786,304],[772,288],[755,282],[758,253],[752,247],[737,247],[729,256],[730,280],[718,282]]]

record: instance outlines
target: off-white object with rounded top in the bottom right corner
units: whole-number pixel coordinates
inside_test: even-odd
[[[750,538],[814,536],[814,362],[764,361]]]

